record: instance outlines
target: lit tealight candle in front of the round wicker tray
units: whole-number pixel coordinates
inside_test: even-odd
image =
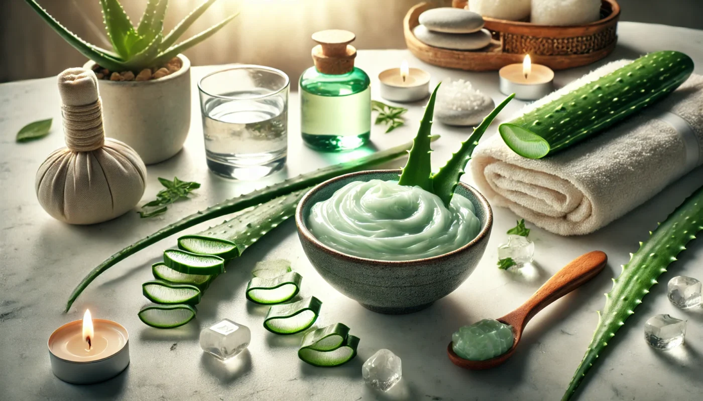
[[[515,93],[520,100],[537,100],[553,90],[554,71],[546,65],[532,64],[525,55],[522,64],[509,64],[498,71],[501,76],[501,92]]]

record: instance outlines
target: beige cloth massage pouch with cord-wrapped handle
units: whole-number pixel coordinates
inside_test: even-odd
[[[98,79],[91,70],[60,73],[58,91],[66,147],[51,153],[37,171],[39,204],[71,224],[101,223],[124,214],[144,193],[144,163],[131,147],[105,138]]]

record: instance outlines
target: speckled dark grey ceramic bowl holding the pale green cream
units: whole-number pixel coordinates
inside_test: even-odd
[[[459,183],[456,193],[474,204],[481,231],[456,251],[413,261],[378,261],[336,251],[308,229],[312,206],[329,199],[347,183],[397,180],[399,173],[399,170],[373,170],[332,178],[311,189],[295,211],[300,242],[318,273],[337,291],[378,313],[412,313],[454,291],[481,260],[493,226],[493,212],[486,198],[469,185]]]

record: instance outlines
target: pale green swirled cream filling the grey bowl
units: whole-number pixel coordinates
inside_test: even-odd
[[[446,254],[481,230],[469,199],[454,194],[449,208],[420,187],[396,181],[354,181],[312,206],[308,227],[344,254],[411,261]]]

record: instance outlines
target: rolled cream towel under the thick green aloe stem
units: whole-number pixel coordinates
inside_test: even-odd
[[[628,60],[615,61],[520,112],[594,81]],[[494,135],[472,157],[479,190],[494,206],[559,235],[598,230],[703,164],[703,77],[600,135],[544,159],[526,159]]]

